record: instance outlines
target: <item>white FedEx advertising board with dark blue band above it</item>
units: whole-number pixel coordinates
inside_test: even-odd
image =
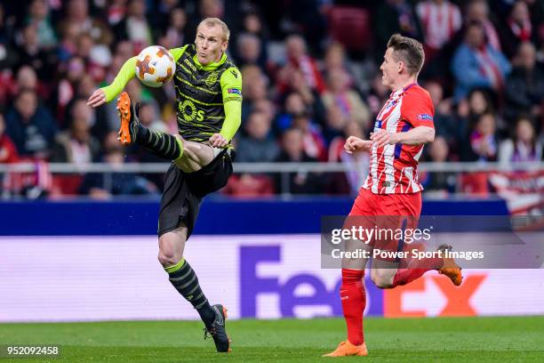
[[[230,318],[340,316],[340,270],[321,269],[318,232],[321,215],[350,206],[349,198],[210,198],[186,257]],[[0,322],[197,319],[156,260],[157,211],[156,201],[0,204]],[[500,199],[428,200],[423,214],[508,215],[508,208]],[[393,290],[367,276],[365,313],[542,314],[543,271],[466,270],[460,287],[429,272]]]

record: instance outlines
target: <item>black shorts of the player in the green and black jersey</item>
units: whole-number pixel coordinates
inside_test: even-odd
[[[210,164],[194,173],[184,173],[172,163],[164,181],[158,236],[175,230],[183,222],[188,228],[189,238],[195,228],[202,199],[227,185],[230,174],[232,160],[227,150],[221,151]]]

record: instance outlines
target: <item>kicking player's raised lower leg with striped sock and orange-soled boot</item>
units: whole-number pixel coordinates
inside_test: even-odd
[[[117,112],[121,119],[119,141],[128,145],[134,142],[149,149],[158,157],[175,160],[183,154],[183,143],[180,138],[168,133],[156,133],[140,125],[138,112],[132,104],[128,93],[121,93],[117,100]]]

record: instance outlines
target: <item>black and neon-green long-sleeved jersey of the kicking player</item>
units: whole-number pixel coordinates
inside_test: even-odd
[[[207,141],[221,133],[228,141],[234,137],[242,117],[242,75],[223,54],[218,62],[202,65],[195,44],[171,49],[176,60],[178,129],[188,141]],[[135,76],[136,57],[124,62],[114,82],[103,90],[112,101]]]

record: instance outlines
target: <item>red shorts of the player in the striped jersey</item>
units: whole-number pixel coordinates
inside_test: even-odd
[[[361,188],[351,212],[349,212],[348,226],[363,227],[365,230],[374,229],[374,238],[367,242],[374,248],[383,251],[404,251],[406,230],[415,230],[421,214],[421,193],[411,194],[374,194],[370,190]],[[400,230],[403,237],[399,238]],[[395,261],[395,259],[381,258],[381,260]]]

